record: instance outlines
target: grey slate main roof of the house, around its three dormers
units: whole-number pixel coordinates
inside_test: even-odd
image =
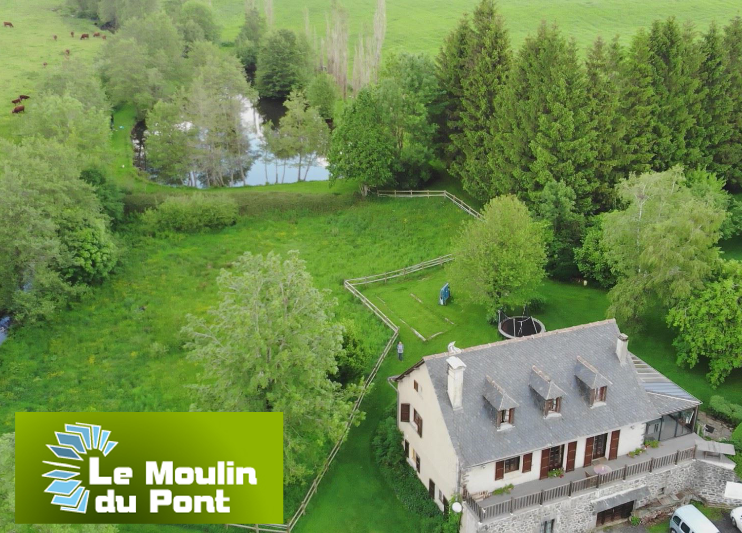
[[[451,442],[466,468],[658,418],[660,412],[640,383],[634,358],[628,357],[621,365],[616,356],[618,334],[611,319],[464,348],[457,354],[466,369],[463,405],[456,411],[447,395],[446,357],[450,354],[424,357],[413,368],[427,368]],[[584,385],[574,371],[578,356],[611,380],[604,405],[591,408],[585,398]],[[543,416],[541,392],[536,394],[531,388],[534,366],[562,389],[562,416]],[[506,383],[507,394],[519,404],[516,422],[508,431],[497,431],[496,414],[485,397],[487,376]],[[550,391],[554,392],[551,385],[545,394]]]

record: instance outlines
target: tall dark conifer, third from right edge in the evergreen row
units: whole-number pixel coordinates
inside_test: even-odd
[[[696,54],[689,33],[683,33],[673,18],[654,21],[649,31],[649,64],[657,102],[655,170],[674,165],[694,168],[700,163],[700,150],[689,142],[702,94],[694,76]]]

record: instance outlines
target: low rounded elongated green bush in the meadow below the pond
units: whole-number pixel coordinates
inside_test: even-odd
[[[142,215],[151,231],[220,229],[237,222],[237,202],[223,194],[170,196]]]

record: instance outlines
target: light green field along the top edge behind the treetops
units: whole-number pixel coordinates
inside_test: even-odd
[[[384,49],[393,52],[438,52],[441,40],[464,12],[471,12],[476,0],[397,0],[387,1],[387,34]],[[274,1],[275,25],[303,33],[303,9],[309,10],[310,27],[324,36],[325,13],[331,0]],[[349,46],[362,27],[371,31],[376,0],[341,2],[349,13]],[[556,22],[579,47],[587,47],[597,36],[624,42],[639,27],[657,18],[676,16],[693,21],[704,29],[712,20],[726,24],[741,13],[737,0],[500,0],[500,10],[510,30],[513,44],[522,43],[542,19]],[[232,40],[243,23],[243,0],[213,0],[223,39]]]

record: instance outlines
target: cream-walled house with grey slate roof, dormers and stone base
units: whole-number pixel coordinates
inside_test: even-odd
[[[614,320],[424,357],[399,376],[407,461],[462,532],[588,532],[735,480],[693,432],[700,401],[628,351]],[[656,447],[647,446],[651,442]]]

